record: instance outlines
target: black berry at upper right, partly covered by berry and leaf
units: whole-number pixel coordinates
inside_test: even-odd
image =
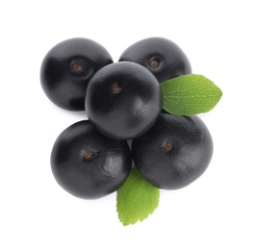
[[[140,63],[163,83],[168,79],[191,74],[192,66],[181,48],[166,38],[145,38],[128,47],[120,62]]]

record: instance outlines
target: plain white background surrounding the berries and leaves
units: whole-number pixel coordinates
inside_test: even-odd
[[[256,249],[254,1],[1,1],[0,249]],[[87,201],[55,182],[52,145],[70,124],[44,95],[40,63],[66,38],[91,38],[115,62],[148,37],[175,41],[194,73],[221,87],[200,115],[213,160],[191,186],[161,191],[159,208],[123,227],[115,193]]]

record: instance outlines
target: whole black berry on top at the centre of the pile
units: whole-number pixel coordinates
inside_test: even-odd
[[[139,137],[161,112],[161,87],[140,64],[113,63],[91,78],[86,109],[91,122],[106,137]]]

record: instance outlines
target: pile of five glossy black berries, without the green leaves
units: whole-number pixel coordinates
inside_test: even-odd
[[[59,185],[80,198],[100,198],[123,185],[132,162],[157,188],[197,179],[211,161],[212,137],[198,116],[162,109],[161,84],[191,73],[187,56],[166,38],[131,45],[118,63],[88,38],[54,46],[41,65],[41,86],[56,105],[89,118],[65,129],[53,146]]]

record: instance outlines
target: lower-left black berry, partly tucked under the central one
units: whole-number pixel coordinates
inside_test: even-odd
[[[88,120],[65,129],[51,154],[52,172],[59,185],[85,199],[114,192],[125,181],[131,166],[127,142],[103,137]]]

